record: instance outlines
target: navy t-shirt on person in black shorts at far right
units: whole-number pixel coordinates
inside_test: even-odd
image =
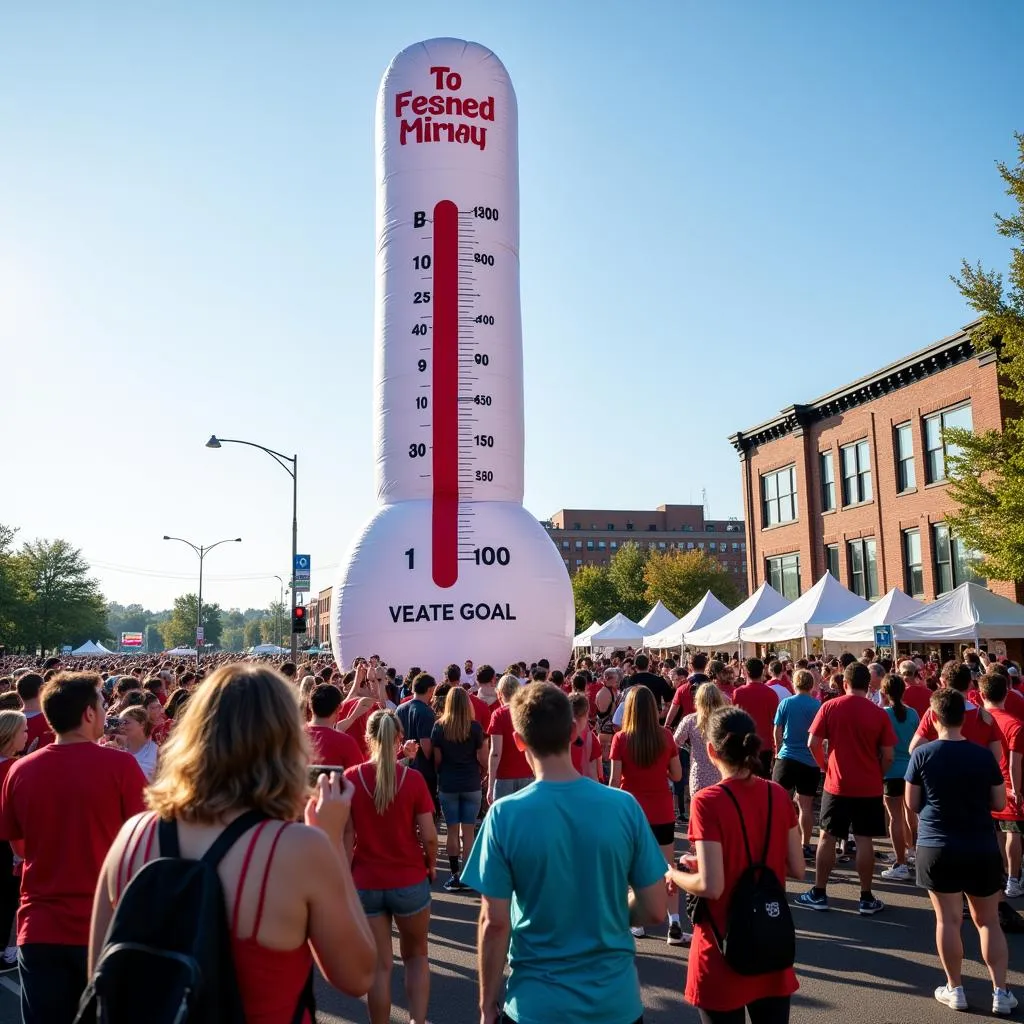
[[[954,853],[997,851],[992,830],[992,786],[1002,772],[992,752],[969,739],[935,739],[910,755],[906,780],[920,785],[918,846]]]

